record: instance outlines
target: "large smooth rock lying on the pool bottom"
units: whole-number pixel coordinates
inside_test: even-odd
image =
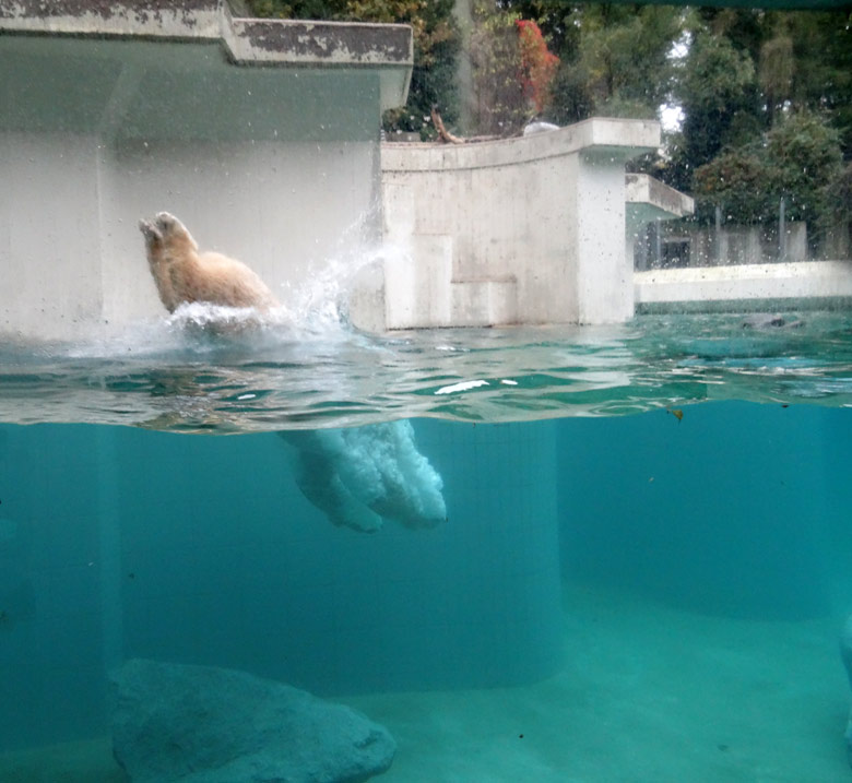
[[[357,783],[397,749],[362,713],[242,672],[133,660],[110,697],[132,783]]]

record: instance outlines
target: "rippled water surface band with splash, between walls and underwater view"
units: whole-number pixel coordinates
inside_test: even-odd
[[[193,308],[74,344],[7,344],[0,419],[239,432],[622,415],[708,399],[852,404],[845,312],[371,336],[338,318],[296,328]]]

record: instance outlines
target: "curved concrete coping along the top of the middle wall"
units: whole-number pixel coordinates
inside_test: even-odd
[[[410,173],[517,166],[579,152],[624,163],[659,146],[656,121],[593,117],[547,133],[473,144],[389,142],[381,149],[381,168],[384,173]]]

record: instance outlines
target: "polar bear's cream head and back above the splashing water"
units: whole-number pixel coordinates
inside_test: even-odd
[[[147,262],[166,309],[205,301],[225,307],[255,307],[265,311],[277,306],[263,281],[246,264],[216,252],[199,253],[186,226],[168,212],[153,221],[140,221]]]

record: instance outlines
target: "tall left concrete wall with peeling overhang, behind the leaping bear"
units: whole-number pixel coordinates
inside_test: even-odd
[[[381,232],[380,114],[405,102],[407,26],[0,0],[0,333],[163,313],[137,227],[161,210],[284,301],[353,226]]]

